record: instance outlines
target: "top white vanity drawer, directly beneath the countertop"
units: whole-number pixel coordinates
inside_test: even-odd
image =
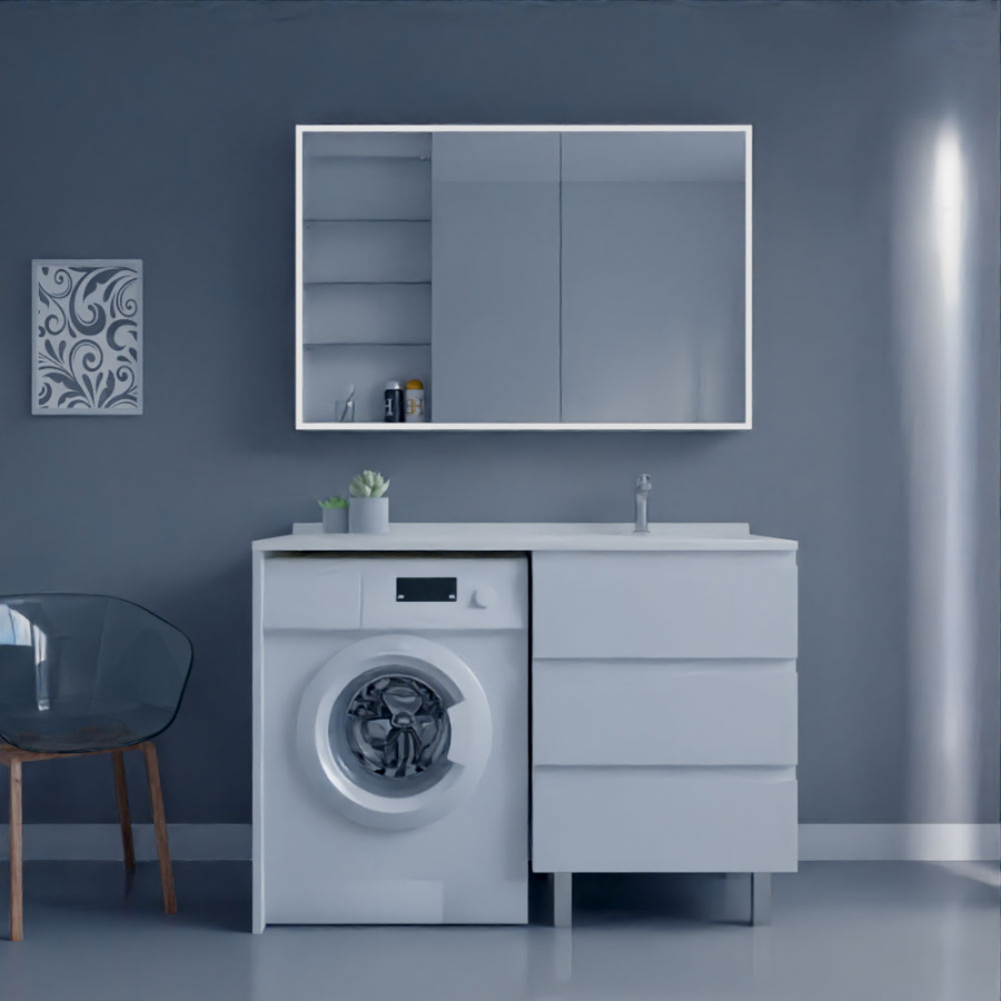
[[[537,553],[535,656],[796,656],[793,552]]]

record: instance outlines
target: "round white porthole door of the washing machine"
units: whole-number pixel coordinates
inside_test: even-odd
[[[419,636],[345,647],[299,705],[303,765],[340,813],[371,827],[417,827],[455,809],[479,782],[492,741],[476,675]]]

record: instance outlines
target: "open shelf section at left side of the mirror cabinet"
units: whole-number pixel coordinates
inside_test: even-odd
[[[429,133],[304,137],[303,410],[383,423],[387,380],[430,387]],[[430,394],[428,393],[428,397]]]

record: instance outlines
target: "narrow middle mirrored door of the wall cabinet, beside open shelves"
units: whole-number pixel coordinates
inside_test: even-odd
[[[559,420],[559,135],[435,132],[432,409]]]

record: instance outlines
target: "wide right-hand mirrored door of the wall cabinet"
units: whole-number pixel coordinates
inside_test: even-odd
[[[743,422],[744,135],[562,138],[563,419]]]

